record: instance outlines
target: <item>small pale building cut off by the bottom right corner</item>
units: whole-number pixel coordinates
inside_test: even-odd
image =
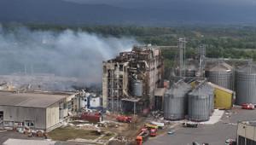
[[[256,144],[256,121],[242,121],[237,126],[237,145]]]

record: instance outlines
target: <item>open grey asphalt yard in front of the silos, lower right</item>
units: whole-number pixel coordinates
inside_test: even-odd
[[[145,145],[191,145],[192,142],[224,145],[227,139],[236,139],[237,122],[241,120],[256,120],[256,110],[232,109],[214,125],[198,125],[198,128],[178,125],[173,135],[150,138]]]

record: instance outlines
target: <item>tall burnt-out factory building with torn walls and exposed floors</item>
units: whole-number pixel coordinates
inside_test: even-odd
[[[102,105],[112,112],[142,113],[154,109],[154,90],[163,86],[160,48],[134,46],[103,62]]]

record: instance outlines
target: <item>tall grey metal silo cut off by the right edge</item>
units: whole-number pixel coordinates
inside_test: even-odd
[[[236,104],[256,104],[256,66],[247,65],[236,70]]]

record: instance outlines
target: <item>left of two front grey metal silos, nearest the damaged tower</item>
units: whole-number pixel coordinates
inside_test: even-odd
[[[179,81],[164,96],[164,118],[170,120],[184,119],[187,107],[187,93],[191,90],[189,84]]]

